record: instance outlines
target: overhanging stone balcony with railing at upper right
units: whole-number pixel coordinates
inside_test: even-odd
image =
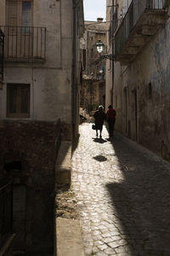
[[[115,61],[135,59],[167,19],[166,0],[133,0],[115,35]]]

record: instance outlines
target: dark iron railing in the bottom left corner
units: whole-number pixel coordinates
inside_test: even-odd
[[[0,187],[0,247],[12,233],[12,185]]]

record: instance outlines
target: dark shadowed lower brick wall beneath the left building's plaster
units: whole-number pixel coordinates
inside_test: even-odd
[[[23,187],[26,188],[25,196],[17,196],[26,201],[14,202],[14,216],[18,216],[14,219],[14,231],[18,233],[16,249],[53,251],[54,166],[59,131],[59,122],[3,121],[0,124],[0,178],[12,180],[17,193],[23,193]],[[5,171],[4,165],[14,161],[21,162],[21,170]]]

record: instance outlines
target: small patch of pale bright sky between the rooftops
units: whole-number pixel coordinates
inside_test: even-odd
[[[97,18],[104,18],[106,0],[83,0],[84,20],[96,21]]]

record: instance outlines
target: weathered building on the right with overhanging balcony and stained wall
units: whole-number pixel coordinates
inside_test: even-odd
[[[116,129],[170,160],[169,1],[115,3]]]

